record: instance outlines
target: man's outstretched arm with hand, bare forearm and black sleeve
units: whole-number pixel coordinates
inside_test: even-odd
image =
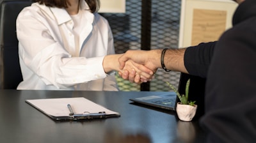
[[[163,63],[167,70],[206,77],[215,44],[216,41],[200,43],[197,46],[184,49],[168,49],[164,55],[162,54],[163,49],[128,50],[119,58],[120,69],[124,68],[125,61],[131,59],[135,63],[143,64],[152,71],[156,71],[157,68],[162,68],[161,56],[163,56]],[[136,83],[140,79],[137,77],[134,81],[135,74],[129,73],[120,74],[120,76]]]

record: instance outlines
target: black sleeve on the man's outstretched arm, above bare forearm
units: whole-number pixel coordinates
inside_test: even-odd
[[[207,76],[215,45],[216,41],[212,41],[186,49],[184,64],[190,75],[204,78]]]

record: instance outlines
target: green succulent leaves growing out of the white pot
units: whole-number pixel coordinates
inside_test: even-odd
[[[186,83],[185,95],[184,94],[180,95],[179,91],[172,84],[170,84],[169,82],[166,82],[166,83],[177,94],[177,96],[182,104],[191,105],[191,106],[193,106],[195,104],[195,101],[194,102],[188,101],[188,91],[189,91],[190,79],[188,79],[188,81]]]

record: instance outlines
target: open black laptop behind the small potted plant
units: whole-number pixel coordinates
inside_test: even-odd
[[[185,94],[186,83],[190,79],[189,84],[189,100],[196,101],[198,110],[196,114],[202,116],[204,114],[204,91],[205,91],[205,79],[186,73],[180,73],[180,81],[178,91],[180,94]],[[161,109],[174,110],[176,104],[179,102],[179,98],[174,92],[166,92],[164,94],[156,94],[152,96],[141,96],[140,98],[130,99],[134,103],[140,103],[144,105],[150,105]],[[197,115],[196,115],[197,116]]]

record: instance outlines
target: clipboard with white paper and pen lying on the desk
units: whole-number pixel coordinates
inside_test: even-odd
[[[57,121],[120,117],[118,112],[106,109],[83,97],[47,98],[25,102]]]

